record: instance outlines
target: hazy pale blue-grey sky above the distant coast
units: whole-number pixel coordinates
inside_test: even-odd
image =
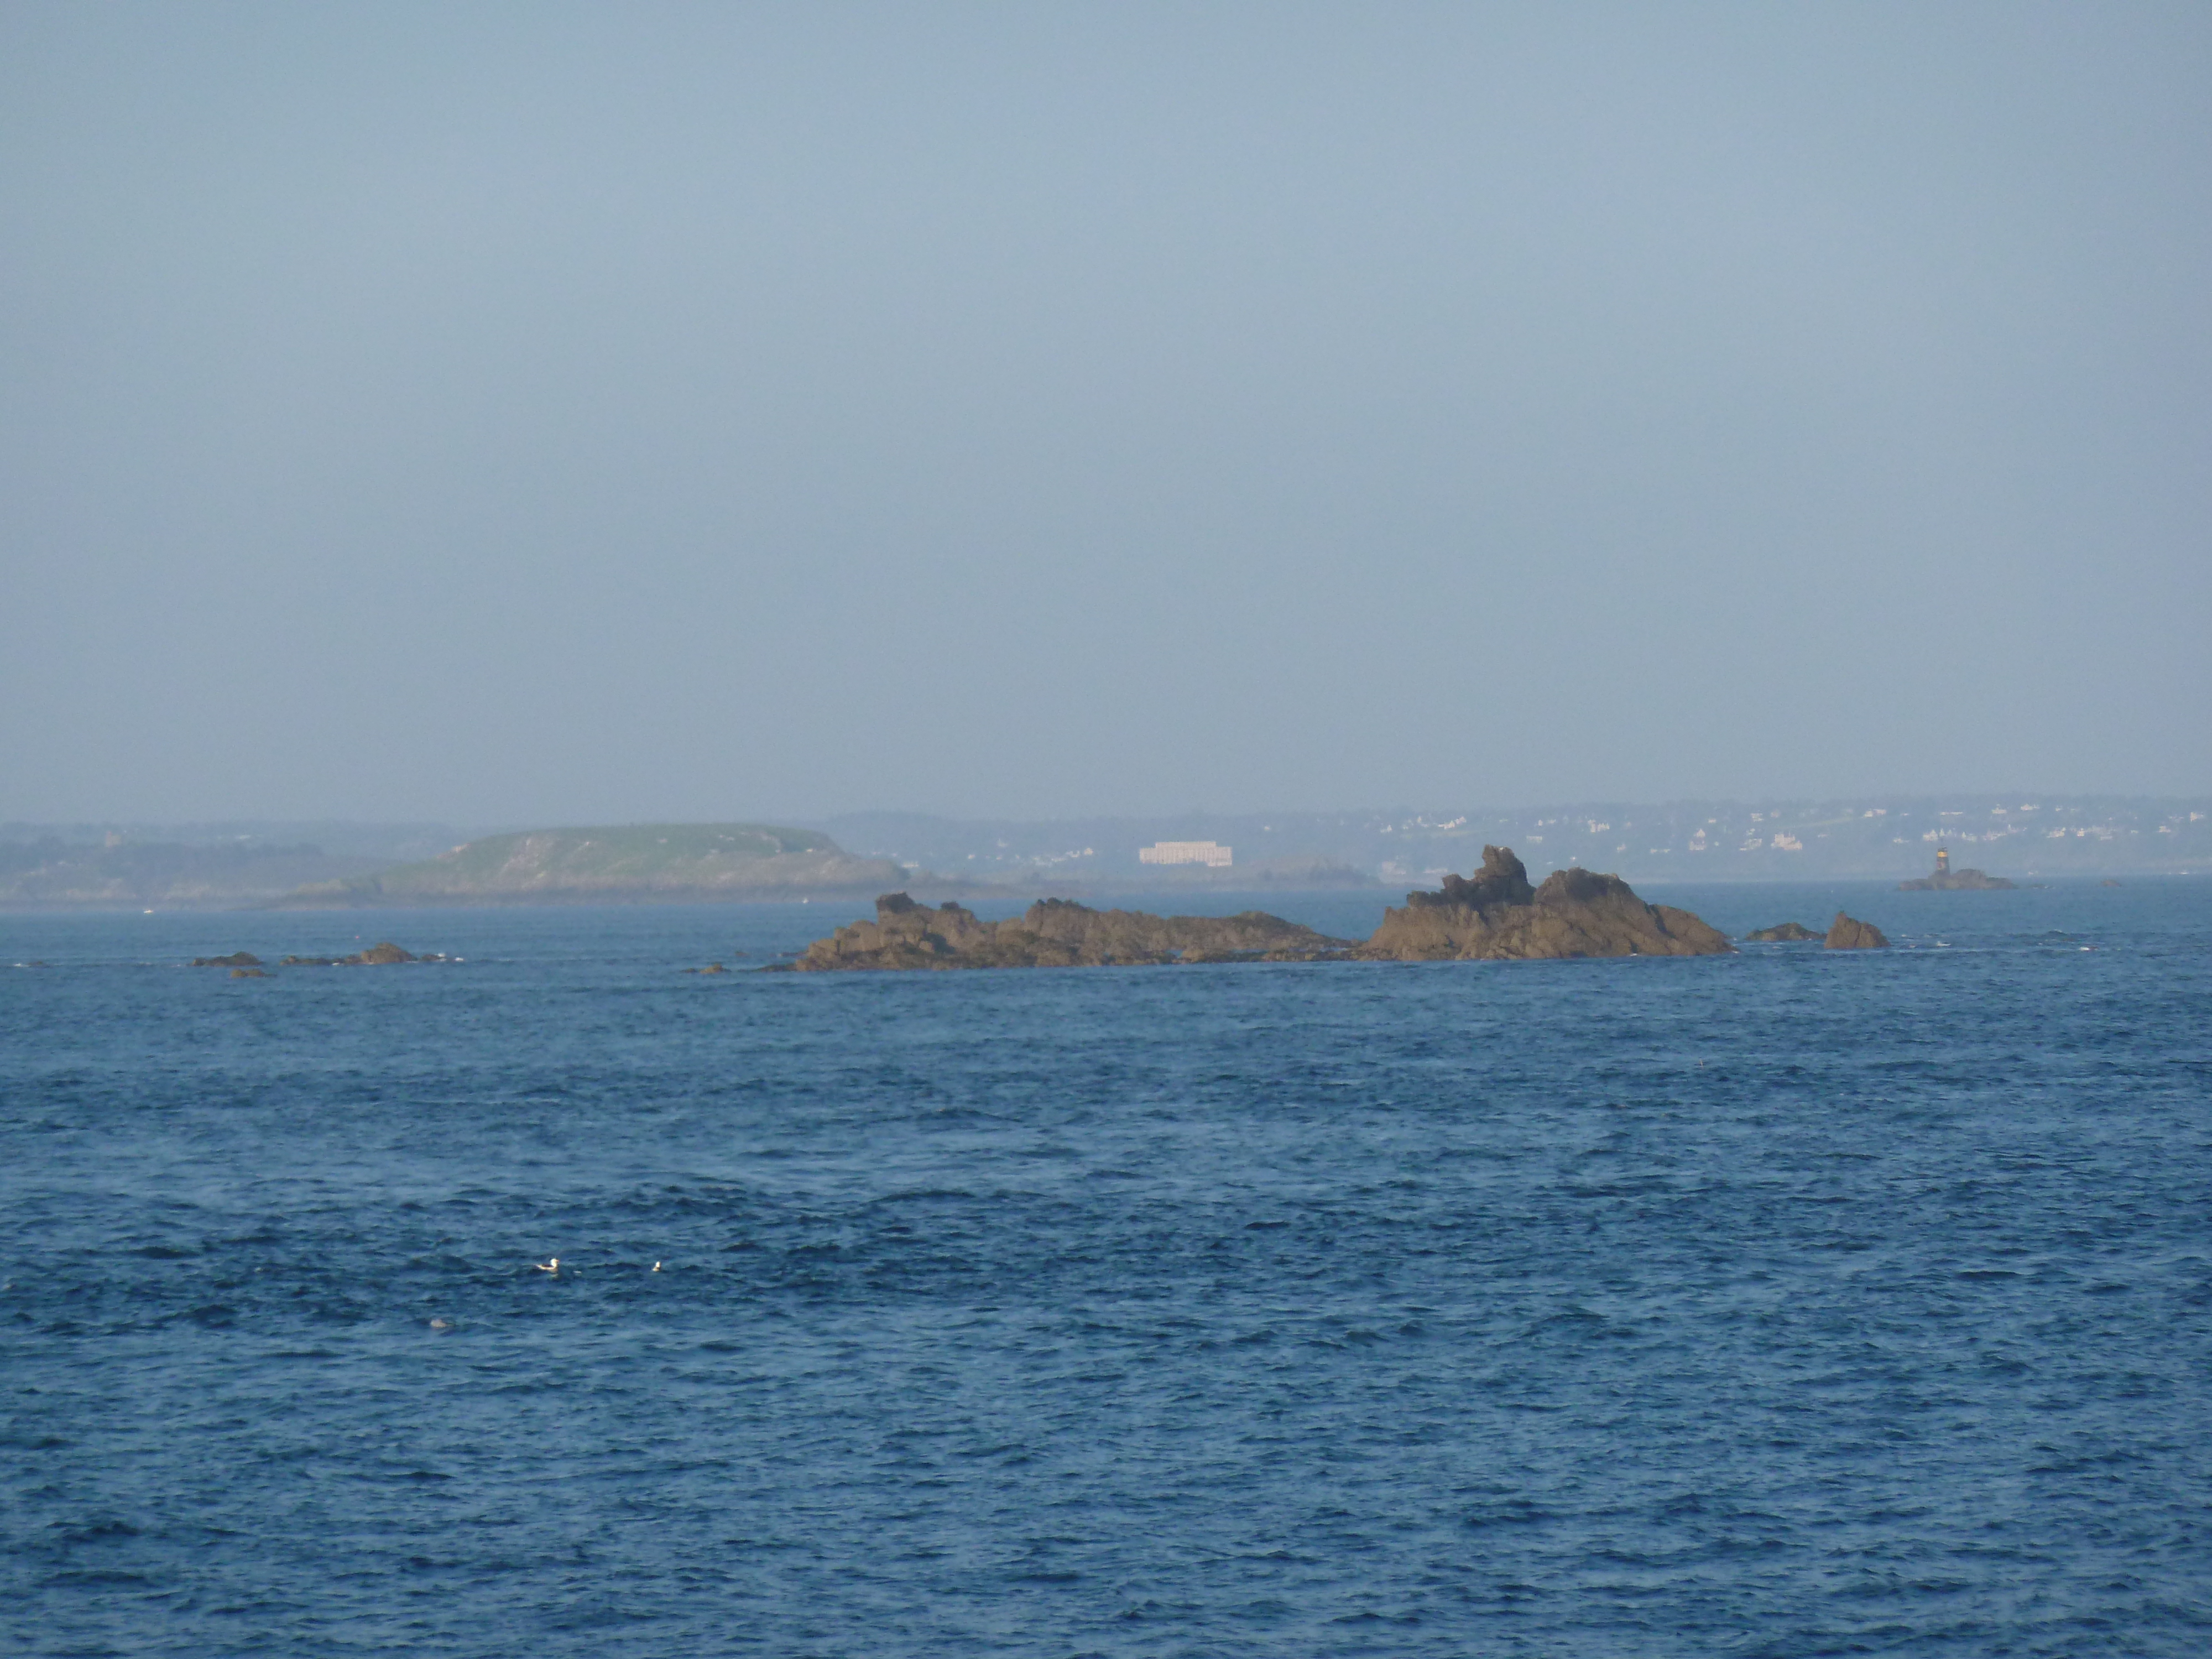
[[[2212,787],[2212,7],[0,4],[0,818]]]

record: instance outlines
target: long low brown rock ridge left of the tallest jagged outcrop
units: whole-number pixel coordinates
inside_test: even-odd
[[[931,909],[907,894],[876,900],[876,920],[852,922],[814,940],[790,967],[967,969],[967,967],[1137,967],[1161,962],[1316,962],[1340,958],[1336,940],[1281,916],[1146,916],[1040,898],[1004,922],[978,920],[953,905]]]

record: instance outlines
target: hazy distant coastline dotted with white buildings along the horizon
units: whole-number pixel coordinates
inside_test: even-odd
[[[661,845],[668,836],[668,845]],[[637,845],[639,838],[646,845]],[[584,845],[591,843],[591,845]],[[1201,845],[1219,863],[1148,863]],[[1650,887],[1927,876],[1938,847],[2011,880],[2212,872],[2203,796],[1880,796],[1513,812],[938,818],[865,812],[469,834],[442,825],[0,823],[0,911],[411,909],[872,898],[1405,891],[1511,845],[1531,874],[1613,869]]]

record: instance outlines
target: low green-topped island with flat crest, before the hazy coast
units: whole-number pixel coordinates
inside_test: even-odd
[[[854,858],[816,830],[759,823],[633,823],[526,830],[436,858],[301,887],[285,909],[374,905],[635,905],[867,894],[911,872]]]

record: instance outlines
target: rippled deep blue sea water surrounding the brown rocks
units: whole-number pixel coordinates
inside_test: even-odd
[[[1898,949],[0,918],[0,1632],[2212,1650],[2212,883],[1650,896]],[[385,936],[465,960],[181,967]]]

